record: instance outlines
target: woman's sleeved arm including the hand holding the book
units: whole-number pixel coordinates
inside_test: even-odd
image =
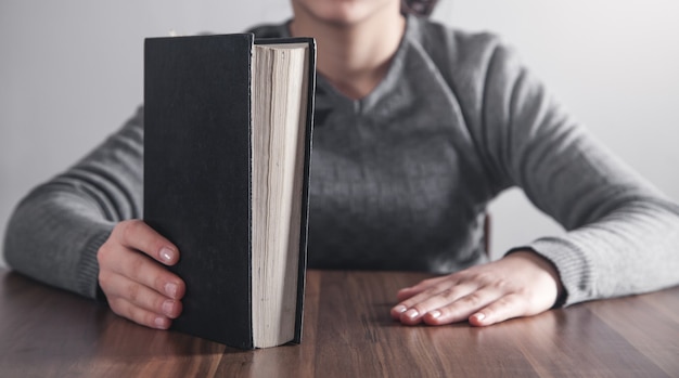
[[[95,298],[133,322],[167,328],[184,283],[162,268],[179,259],[142,217],[143,109],[82,160],[38,186],[12,216],[8,263],[47,284]],[[101,291],[99,290],[101,287]]]

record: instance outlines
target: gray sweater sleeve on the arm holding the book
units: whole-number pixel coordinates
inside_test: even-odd
[[[8,264],[35,279],[94,298],[97,251],[114,225],[140,218],[143,110],[65,172],[33,190],[10,218]]]

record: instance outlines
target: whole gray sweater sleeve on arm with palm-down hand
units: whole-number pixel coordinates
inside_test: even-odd
[[[679,207],[578,125],[511,50],[495,49],[484,88],[479,135],[491,170],[566,229],[520,247],[556,266],[564,304],[679,284]]]

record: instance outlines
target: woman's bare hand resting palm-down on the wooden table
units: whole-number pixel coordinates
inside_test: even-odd
[[[549,261],[531,251],[516,251],[399,290],[400,303],[392,309],[392,317],[407,325],[469,320],[474,326],[487,326],[547,311],[562,290]]]

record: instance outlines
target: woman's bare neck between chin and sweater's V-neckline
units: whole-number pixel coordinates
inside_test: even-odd
[[[341,93],[358,100],[386,75],[406,28],[405,17],[390,9],[355,23],[329,23],[295,12],[293,36],[316,38],[318,71]]]

